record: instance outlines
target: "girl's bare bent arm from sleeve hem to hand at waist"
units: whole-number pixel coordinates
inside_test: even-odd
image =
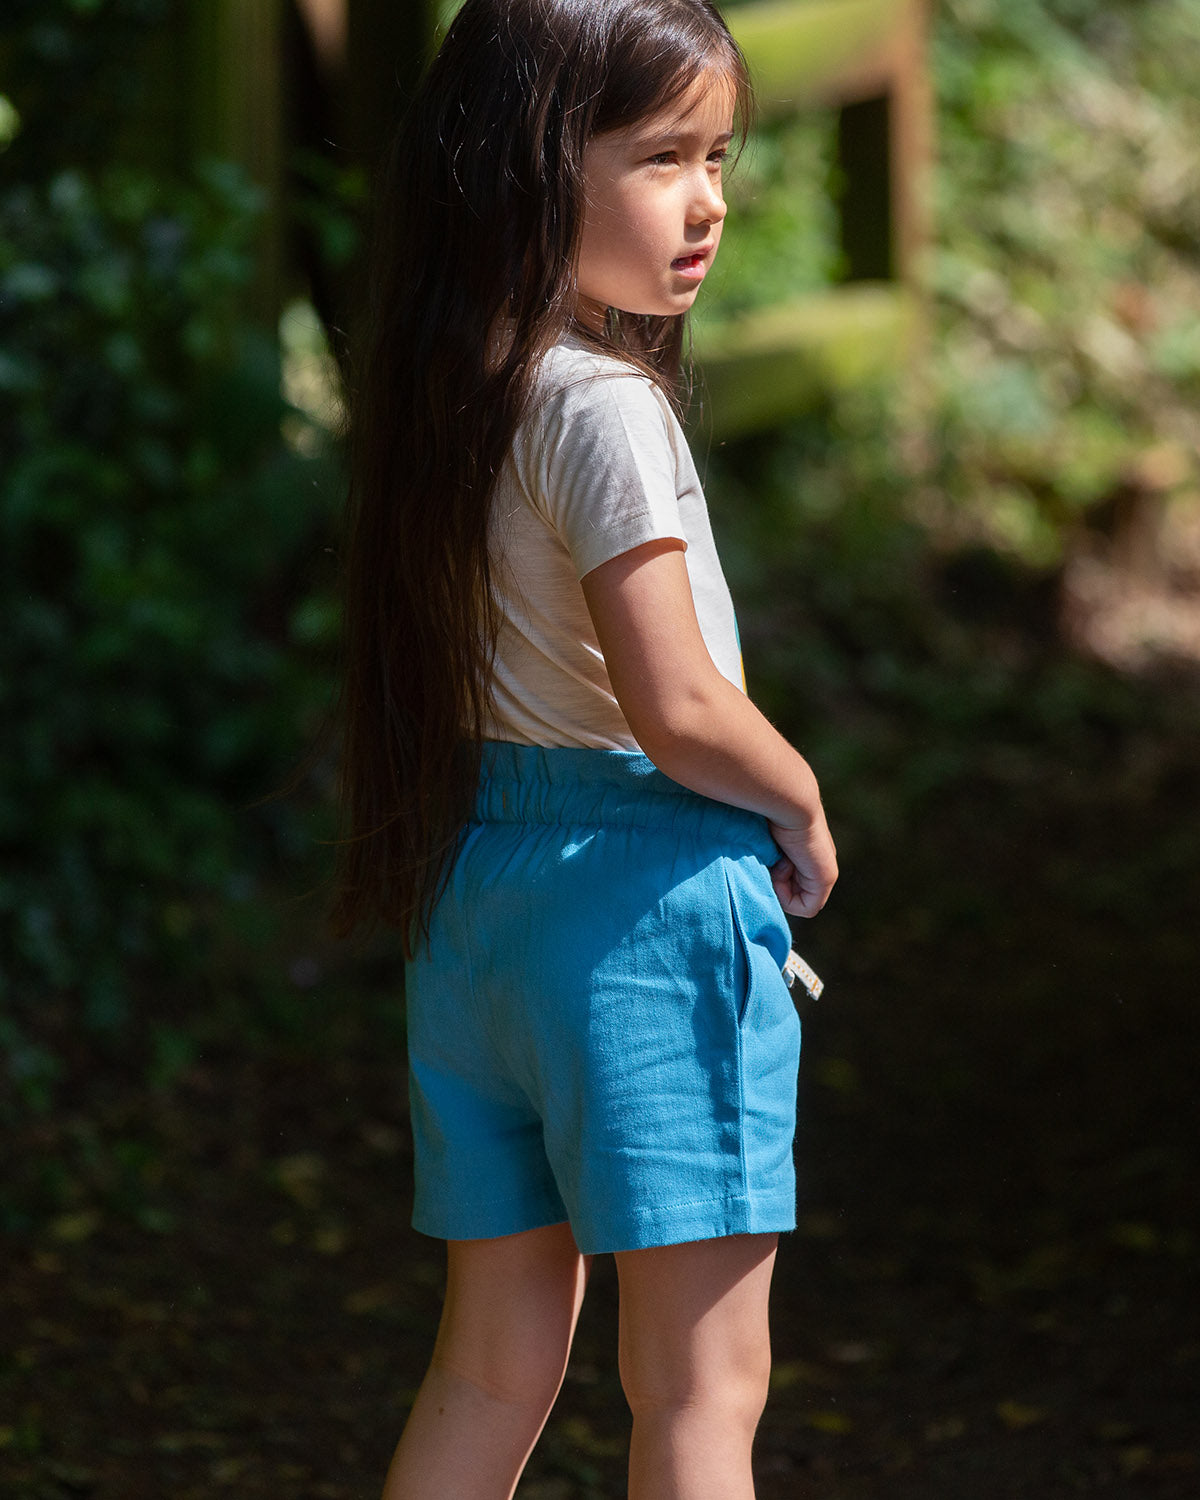
[[[674,782],[762,813],[783,858],[784,910],[816,916],[837,879],[816,777],[722,676],[696,620],[682,542],[646,542],[592,568],[584,597],[633,738]]]

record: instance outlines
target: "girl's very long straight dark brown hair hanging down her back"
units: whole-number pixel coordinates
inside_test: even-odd
[[[338,933],[382,920],[408,956],[428,934],[480,770],[492,490],[573,326],[584,147],[708,68],[744,106],[710,0],[465,0],[411,102],[351,396]],[[612,310],[600,342],[674,392],[682,324]]]

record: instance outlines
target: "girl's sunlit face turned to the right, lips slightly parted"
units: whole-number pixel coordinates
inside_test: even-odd
[[[602,328],[608,308],[672,316],[696,300],[722,238],[734,105],[734,84],[705,72],[678,104],[588,141],[582,322]]]

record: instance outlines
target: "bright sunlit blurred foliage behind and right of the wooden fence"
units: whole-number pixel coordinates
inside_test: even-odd
[[[900,432],[843,435],[900,454],[924,429],[894,510],[1054,568],[1143,454],[1200,484],[1200,3],[945,0],[932,42],[932,358]],[[830,116],[759,130],[700,316],[836,282],[836,190]]]

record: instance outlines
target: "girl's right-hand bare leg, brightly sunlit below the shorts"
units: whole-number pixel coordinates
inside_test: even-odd
[[[736,1234],[616,1257],[628,1500],[753,1500],[776,1245]]]

